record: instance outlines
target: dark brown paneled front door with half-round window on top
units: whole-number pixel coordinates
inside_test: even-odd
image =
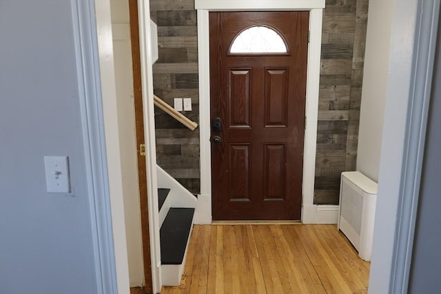
[[[209,25],[213,219],[300,220],[309,12],[211,12]],[[256,26],[286,52],[232,50]]]

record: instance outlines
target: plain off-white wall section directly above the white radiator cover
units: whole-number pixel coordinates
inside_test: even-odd
[[[393,1],[370,1],[363,67],[357,170],[378,182],[389,72]]]

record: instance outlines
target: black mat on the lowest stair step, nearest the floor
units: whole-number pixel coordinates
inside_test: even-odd
[[[161,263],[182,264],[194,208],[171,208],[160,230]]]

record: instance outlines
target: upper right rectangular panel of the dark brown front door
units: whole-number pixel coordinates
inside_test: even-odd
[[[288,117],[287,68],[265,69],[265,127],[286,127]]]

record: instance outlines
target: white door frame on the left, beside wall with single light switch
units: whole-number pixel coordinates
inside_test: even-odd
[[[71,0],[71,7],[96,291],[128,294],[110,0]]]

